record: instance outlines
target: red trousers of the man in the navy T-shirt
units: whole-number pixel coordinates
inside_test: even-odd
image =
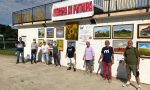
[[[112,73],[111,73],[112,62],[109,62],[109,63],[102,62],[102,64],[103,64],[103,78],[106,79],[106,70],[108,69],[108,79],[111,80],[112,79]]]

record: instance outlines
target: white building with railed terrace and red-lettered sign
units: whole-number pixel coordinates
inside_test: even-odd
[[[96,7],[93,1],[100,2],[100,7]],[[86,6],[87,5],[87,6]],[[110,5],[110,7],[109,7]],[[113,46],[113,41],[125,41],[133,39],[134,46],[137,42],[149,44],[150,36],[140,35],[140,30],[150,26],[150,0],[68,0],[57,2],[54,4],[46,4],[43,6],[33,7],[22,11],[13,12],[13,24],[18,26],[18,37],[23,37],[26,43],[25,58],[30,55],[31,42],[33,38],[43,40],[63,40],[63,51],[61,51],[61,64],[67,66],[65,59],[67,39],[66,24],[77,22],[78,24],[78,40],[76,42],[77,69],[83,68],[83,54],[86,47],[86,40],[90,39],[91,46],[95,51],[94,72],[98,69],[98,59],[104,42],[108,39]],[[127,25],[127,26],[126,26]],[[129,25],[129,26],[128,26]],[[110,26],[110,37],[95,37],[95,26]],[[129,36],[115,36],[114,31],[117,28],[130,28],[132,33]],[[56,37],[57,28],[64,27],[64,37]],[[54,29],[54,37],[47,37],[47,28]],[[39,37],[39,29],[44,29],[44,37]],[[75,33],[75,31],[74,31]],[[120,42],[121,43],[121,42]],[[118,47],[119,48],[119,47]],[[140,78],[142,83],[150,84],[150,53],[142,54],[140,62]],[[144,58],[143,58],[144,57]],[[146,57],[146,58],[145,58]],[[126,78],[125,69],[122,63],[123,54],[115,51],[115,63],[112,66],[112,74],[114,77]],[[132,80],[135,80],[134,77]]]

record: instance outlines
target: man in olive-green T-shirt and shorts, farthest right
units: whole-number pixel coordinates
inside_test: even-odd
[[[130,85],[131,71],[136,78],[138,84],[137,90],[141,90],[140,78],[139,78],[139,64],[140,64],[140,54],[137,48],[133,47],[132,40],[128,41],[128,46],[124,52],[126,72],[128,75],[128,81],[123,86]]]

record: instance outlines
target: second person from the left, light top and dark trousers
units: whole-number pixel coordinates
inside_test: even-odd
[[[31,43],[31,64],[36,63],[36,53],[37,53],[38,45],[36,43],[36,39],[33,39],[33,42]]]

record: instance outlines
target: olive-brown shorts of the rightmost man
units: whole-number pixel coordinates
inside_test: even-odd
[[[128,75],[131,75],[131,72],[133,72],[134,76],[139,76],[139,71],[137,70],[136,65],[126,65],[126,72]]]

